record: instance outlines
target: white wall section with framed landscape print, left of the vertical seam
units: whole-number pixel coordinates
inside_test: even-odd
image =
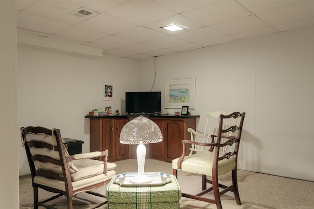
[[[141,69],[142,77],[151,77],[154,59],[141,61]],[[202,132],[205,129],[207,112],[245,111],[247,115],[238,159],[239,168],[256,170],[255,40],[157,57],[156,77],[154,90],[162,91],[162,98],[165,79],[196,78],[196,105],[189,112],[200,115],[197,129]],[[144,81],[141,88],[147,89],[149,86],[152,86],[152,82]],[[238,93],[227,95],[230,91]],[[163,112],[166,112],[164,99],[162,101]],[[177,111],[181,112],[181,109]]]

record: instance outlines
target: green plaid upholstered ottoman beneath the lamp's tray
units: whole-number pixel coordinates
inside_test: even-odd
[[[120,186],[112,178],[106,190],[108,209],[180,209],[181,189],[175,176],[158,186]]]

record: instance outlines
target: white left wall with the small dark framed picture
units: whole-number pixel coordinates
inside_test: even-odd
[[[63,138],[84,141],[89,151],[89,120],[94,108],[125,112],[125,91],[139,90],[139,62],[113,56],[84,58],[18,47],[18,127],[59,128]],[[113,83],[114,101],[102,100],[103,81]],[[20,175],[29,174],[19,142]]]

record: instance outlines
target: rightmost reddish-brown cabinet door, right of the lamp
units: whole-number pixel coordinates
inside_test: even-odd
[[[164,135],[166,135],[164,161],[172,162],[182,155],[183,120],[164,120],[164,125]]]

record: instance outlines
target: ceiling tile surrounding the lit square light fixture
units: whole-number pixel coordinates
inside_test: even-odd
[[[159,21],[154,22],[154,23],[147,24],[147,25],[145,25],[145,27],[153,29],[153,30],[158,30],[158,31],[160,31],[162,33],[166,33],[166,34],[169,34],[169,35],[173,35],[173,34],[177,34],[177,33],[183,32],[183,30],[169,31],[169,30],[165,30],[165,29],[161,29],[160,28],[162,26],[167,26],[167,25],[170,25],[170,24],[173,24],[173,23],[176,23],[176,24],[179,24],[181,26],[187,27],[186,30],[193,30],[193,29],[198,29],[198,28],[204,27],[202,24],[197,23],[195,21],[192,21],[192,20],[184,17],[183,15],[179,15],[179,14],[175,15],[175,16],[172,16],[172,17],[168,17],[168,18],[159,20]]]

